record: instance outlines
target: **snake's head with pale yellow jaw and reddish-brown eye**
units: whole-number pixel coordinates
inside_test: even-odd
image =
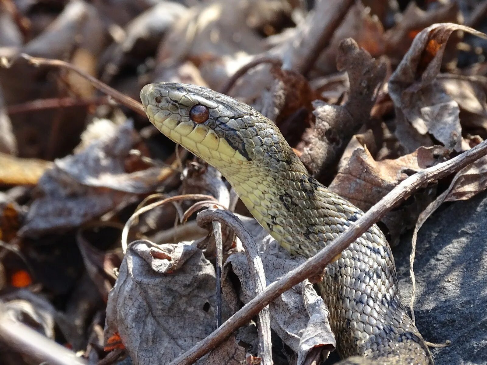
[[[142,89],[140,98],[157,129],[217,167],[253,160],[262,150],[259,132],[267,124],[277,130],[248,105],[200,86],[154,83]]]

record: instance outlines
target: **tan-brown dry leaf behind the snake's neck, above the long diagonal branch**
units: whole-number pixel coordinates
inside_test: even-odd
[[[367,211],[396,185],[412,174],[432,166],[443,155],[438,147],[420,147],[413,153],[395,160],[375,161],[363,139],[354,136],[343,153],[337,176],[329,185],[330,190]],[[382,222],[390,234],[389,243],[395,245],[399,235],[414,226],[417,216],[432,200],[429,189],[417,193],[411,204],[403,205],[388,213]]]

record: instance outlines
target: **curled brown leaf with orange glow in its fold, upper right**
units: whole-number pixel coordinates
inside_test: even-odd
[[[462,138],[459,107],[436,80],[450,35],[457,30],[479,37],[483,33],[453,24],[434,24],[421,31],[389,80],[396,114],[404,115],[420,135],[431,134],[448,148],[468,149]],[[399,116],[401,118],[401,116]],[[401,142],[403,136],[397,134]],[[421,146],[418,141],[417,147]],[[411,150],[409,151],[411,152]]]

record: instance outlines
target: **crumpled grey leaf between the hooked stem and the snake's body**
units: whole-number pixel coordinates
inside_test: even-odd
[[[244,224],[260,246],[267,285],[305,261],[303,257],[291,256],[281,248],[255,219],[245,219]],[[229,303],[234,302],[229,289],[231,284],[227,279],[230,272],[238,276],[241,283],[240,300],[247,303],[255,296],[255,288],[244,253],[232,254],[224,265],[223,293]],[[328,322],[328,309],[309,281],[306,280],[281,294],[269,305],[269,309],[271,328],[298,354],[299,365],[304,364],[306,356],[315,347],[322,347],[324,351],[335,348],[335,336]]]

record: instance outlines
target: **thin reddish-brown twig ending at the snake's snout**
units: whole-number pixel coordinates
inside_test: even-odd
[[[76,66],[72,65],[71,63],[61,61],[59,59],[49,59],[49,58],[41,58],[41,57],[32,57],[30,55],[21,54],[20,57],[25,58],[29,63],[35,66],[52,66],[58,67],[63,69],[71,70],[81,77],[84,77],[88,81],[90,81],[95,88],[105,92],[107,95],[110,95],[114,100],[118,101],[119,103],[125,105],[126,107],[130,108],[131,110],[141,114],[146,115],[142,104],[138,101],[135,101],[131,97],[122,94],[120,91],[116,91],[115,89],[111,88],[107,84],[104,84],[100,80],[96,79],[92,75],[86,73],[85,71],[77,68]]]

